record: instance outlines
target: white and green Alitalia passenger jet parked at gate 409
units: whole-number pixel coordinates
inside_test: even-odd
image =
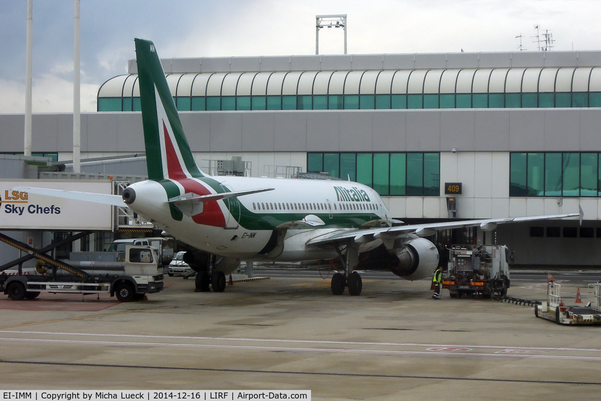
[[[199,170],[182,129],[154,44],[136,39],[148,180],[123,196],[40,188],[21,191],[129,206],[175,239],[193,246],[185,261],[198,291],[221,292],[240,260],[340,260],[332,293],[361,293],[359,254],[381,248],[382,267],[407,280],[435,271],[436,246],[423,238],[439,229],[581,216],[581,213],[402,225],[372,188],[337,180],[211,177]]]

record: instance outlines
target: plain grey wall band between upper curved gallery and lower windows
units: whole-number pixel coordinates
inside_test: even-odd
[[[33,117],[33,152],[72,152],[70,114]],[[601,152],[601,109],[180,112],[193,152]],[[22,115],[0,114],[3,152]],[[144,152],[140,112],[82,114],[81,151]]]

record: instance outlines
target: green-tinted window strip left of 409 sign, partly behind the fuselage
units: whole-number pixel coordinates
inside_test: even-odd
[[[380,195],[439,196],[440,153],[307,153],[309,173],[326,172]]]

